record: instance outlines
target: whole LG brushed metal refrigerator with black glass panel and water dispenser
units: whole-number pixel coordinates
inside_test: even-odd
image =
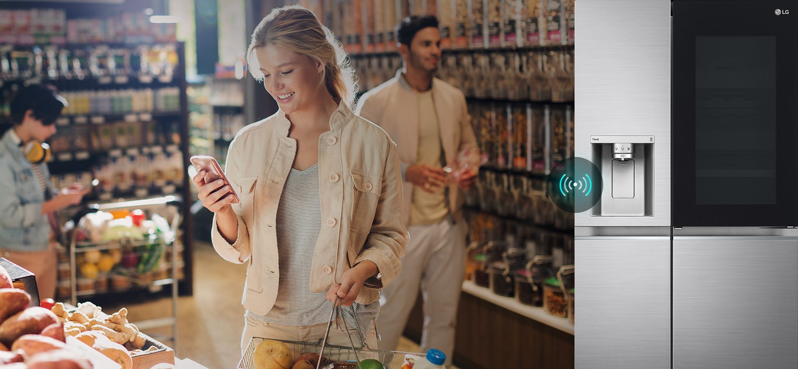
[[[798,1],[576,6],[575,367],[798,367]]]

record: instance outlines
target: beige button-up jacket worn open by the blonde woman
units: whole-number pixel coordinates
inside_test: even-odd
[[[247,125],[230,144],[225,173],[241,202],[233,205],[239,234],[227,243],[211,228],[213,247],[233,263],[249,260],[242,304],[266,315],[275,304],[279,260],[275,222],[282,186],[296,155],[288,137],[290,121],[279,111]],[[324,292],[340,283],[342,273],[363,260],[379,268],[380,278],[366,280],[358,299],[370,304],[378,289],[401,271],[408,233],[402,223],[401,172],[396,145],[387,134],[355,116],[345,104],[330,117],[330,131],[318,138],[322,229],[313,256],[310,291]]]

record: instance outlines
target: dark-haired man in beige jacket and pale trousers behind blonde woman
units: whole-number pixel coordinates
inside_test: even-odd
[[[462,191],[474,184],[480,154],[463,93],[434,77],[440,60],[437,18],[405,18],[396,34],[402,69],[365,93],[355,109],[397,143],[402,216],[410,234],[401,274],[381,290],[378,346],[396,348],[421,288],[421,349],[444,351],[451,363],[468,232]]]

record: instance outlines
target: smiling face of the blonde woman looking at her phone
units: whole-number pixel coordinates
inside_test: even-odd
[[[263,87],[283,113],[306,110],[327,93],[320,62],[275,45],[255,49],[255,58],[263,73]]]

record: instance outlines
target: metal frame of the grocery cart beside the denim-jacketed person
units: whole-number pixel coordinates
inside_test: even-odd
[[[172,220],[169,224],[168,231],[164,231],[156,235],[151,235],[148,239],[145,240],[131,240],[129,238],[128,239],[123,238],[122,240],[114,240],[102,243],[96,243],[91,241],[77,242],[76,240],[77,232],[73,232],[72,236],[69,237],[69,250],[68,250],[69,267],[70,267],[69,284],[71,288],[71,296],[70,296],[71,304],[77,306],[78,296],[93,295],[97,293],[97,292],[77,291],[77,254],[89,251],[105,251],[113,249],[133,250],[136,248],[145,248],[148,245],[152,245],[153,243],[159,243],[160,247],[164,248],[166,248],[167,246],[171,246],[172,275],[166,278],[153,279],[153,280],[139,279],[136,280],[136,282],[137,285],[140,286],[141,288],[149,288],[151,291],[160,289],[164,285],[171,285],[172,315],[165,318],[149,319],[134,323],[136,324],[136,327],[140,329],[140,331],[145,331],[153,327],[168,327],[171,325],[172,336],[165,337],[165,339],[169,339],[172,341],[172,347],[177,347],[177,288],[178,288],[177,281],[178,281],[178,268],[179,268],[178,265],[179,250],[175,241],[177,240],[177,230],[178,227],[180,226],[181,204],[182,200],[178,196],[161,196],[161,197],[148,198],[144,200],[131,200],[131,201],[122,201],[122,202],[105,203],[105,204],[89,204],[85,209],[81,210],[81,212],[78,212],[73,217],[73,222],[76,227],[83,216],[86,216],[89,213],[97,211],[113,212],[115,210],[124,210],[124,209],[129,209],[129,210],[141,209],[144,212],[157,213],[158,211],[163,212],[164,210],[167,210],[168,207],[172,207],[174,210],[173,211],[174,216],[172,216]]]

